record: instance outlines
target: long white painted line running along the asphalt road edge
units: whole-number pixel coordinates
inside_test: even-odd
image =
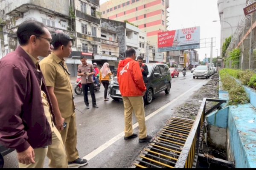
[[[150,119],[151,117],[153,117],[154,115],[156,115],[157,113],[159,113],[160,111],[162,111],[164,108],[168,107],[169,105],[171,105],[173,102],[175,102],[176,100],[180,99],[182,96],[184,96],[185,94],[189,93],[191,90],[193,90],[194,88],[198,87],[199,85],[204,84],[204,82],[206,81],[206,79],[204,81],[202,81],[201,83],[199,83],[198,85],[195,85],[194,87],[190,88],[189,90],[185,91],[183,94],[181,94],[180,96],[176,97],[175,99],[173,99],[172,101],[170,101],[169,103],[167,103],[166,105],[162,106],[161,108],[157,109],[156,111],[154,111],[153,113],[149,114],[148,116],[145,117],[145,120]],[[138,127],[139,124],[135,123],[132,127],[133,129]],[[91,153],[87,154],[86,156],[83,157],[83,159],[93,159],[94,156],[97,156],[99,153],[101,153],[103,150],[105,150],[106,148],[108,148],[109,146],[111,146],[111,144],[115,143],[117,140],[121,139],[123,136],[125,135],[124,132],[119,133],[118,135],[116,135],[115,137],[113,137],[112,139],[110,139],[108,142],[106,142],[105,144],[102,144],[100,147],[98,147],[96,150],[93,150]],[[78,168],[78,166],[74,166],[72,168]]]

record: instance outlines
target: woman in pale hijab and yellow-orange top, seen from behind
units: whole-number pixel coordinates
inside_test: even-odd
[[[109,100],[109,98],[107,97],[107,93],[108,93],[108,85],[109,85],[109,80],[110,80],[111,75],[112,75],[112,73],[109,69],[109,64],[108,64],[108,62],[105,62],[99,71],[99,82],[101,82],[105,88],[104,101]]]

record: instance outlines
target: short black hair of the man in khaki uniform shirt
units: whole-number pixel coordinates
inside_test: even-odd
[[[61,45],[67,46],[73,39],[63,32],[55,32],[52,34],[53,50],[57,50]]]

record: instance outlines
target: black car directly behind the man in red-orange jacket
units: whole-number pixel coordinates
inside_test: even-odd
[[[148,83],[147,91],[144,97],[145,104],[150,104],[154,99],[154,94],[165,91],[170,93],[172,86],[172,77],[169,72],[169,67],[162,63],[145,63],[148,66]],[[108,86],[108,95],[112,99],[118,101],[122,99],[119,91],[117,77],[114,77]]]

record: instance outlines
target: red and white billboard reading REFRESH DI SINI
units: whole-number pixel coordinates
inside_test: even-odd
[[[157,34],[158,52],[200,48],[200,26]]]

